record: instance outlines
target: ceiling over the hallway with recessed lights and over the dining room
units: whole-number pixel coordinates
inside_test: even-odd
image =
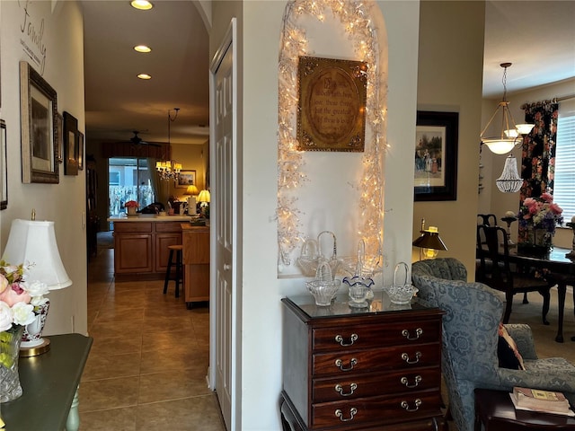
[[[86,137],[203,144],[208,140],[208,31],[197,2],[155,1],[137,11],[125,0],[84,0]],[[574,1],[486,2],[483,97],[575,76]],[[133,50],[138,44],[149,54]],[[136,75],[147,73],[142,81]],[[574,89],[575,92],[575,89]],[[168,111],[180,108],[173,122]]]

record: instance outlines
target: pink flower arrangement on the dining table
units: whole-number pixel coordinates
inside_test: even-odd
[[[533,225],[535,229],[545,229],[555,233],[555,226],[563,223],[562,207],[553,202],[553,195],[544,193],[539,198],[526,198],[519,207],[519,224]]]

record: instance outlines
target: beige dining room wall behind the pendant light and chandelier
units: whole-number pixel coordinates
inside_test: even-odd
[[[512,75],[513,67],[508,70],[508,76]],[[482,124],[487,124],[491,118],[493,111],[497,104],[501,101],[503,90],[501,88],[501,96],[499,99],[483,101],[483,118]],[[543,85],[536,87],[525,92],[515,92],[508,94],[509,110],[516,123],[521,123],[525,119],[525,112],[521,109],[524,103],[532,103],[535,101],[546,101],[553,98],[561,98],[563,96],[571,96],[575,94],[575,78],[562,81],[556,84]],[[486,117],[487,115],[487,117]],[[517,158],[517,165],[519,175],[521,174],[521,145],[518,145],[511,154]],[[519,209],[519,192],[517,193],[501,193],[495,184],[505,164],[505,158],[508,154],[498,155],[492,154],[490,150],[484,149],[482,152],[482,160],[485,168],[485,195],[481,197],[481,206],[484,208],[485,213],[493,213],[502,216],[506,211],[517,212]],[[511,239],[513,242],[517,240],[517,223],[511,224]],[[573,239],[573,232],[569,228],[557,229],[553,237],[553,244],[558,247],[565,247],[571,249]]]

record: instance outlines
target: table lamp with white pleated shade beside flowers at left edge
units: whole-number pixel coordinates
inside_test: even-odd
[[[12,264],[30,265],[26,273],[28,283],[39,281],[50,291],[72,285],[57,250],[54,222],[13,220],[2,259]],[[20,356],[36,356],[49,350],[49,339],[41,337],[48,309],[49,301],[40,305],[36,320],[26,325]]]

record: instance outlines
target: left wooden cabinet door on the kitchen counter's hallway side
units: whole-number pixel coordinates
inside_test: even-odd
[[[116,233],[114,249],[116,274],[152,272],[154,265],[151,233]]]

